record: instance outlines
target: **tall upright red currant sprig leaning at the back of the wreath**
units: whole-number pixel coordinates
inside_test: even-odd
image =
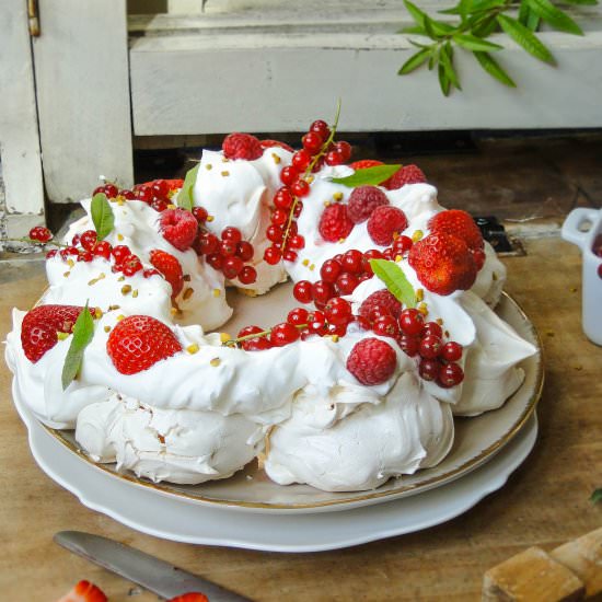
[[[303,210],[302,198],[310,194],[310,174],[326,165],[339,165],[351,158],[348,142],[333,142],[335,128],[326,121],[314,121],[301,138],[303,148],[298,150],[291,164],[280,172],[282,187],[274,195],[274,210],[266,230],[271,242],[264,253],[264,259],[275,265],[280,259],[296,262],[297,253],[305,246],[305,241],[297,231],[296,220]]]

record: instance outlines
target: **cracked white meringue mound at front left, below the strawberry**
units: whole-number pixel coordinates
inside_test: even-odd
[[[261,451],[258,435],[257,425],[240,414],[158,409],[117,394],[83,408],[76,429],[95,462],[182,484],[232,476]]]

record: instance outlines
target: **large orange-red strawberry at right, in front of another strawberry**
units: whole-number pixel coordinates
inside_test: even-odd
[[[449,234],[433,233],[418,241],[408,261],[425,288],[438,294],[467,290],[476,278],[476,265],[466,243]]]

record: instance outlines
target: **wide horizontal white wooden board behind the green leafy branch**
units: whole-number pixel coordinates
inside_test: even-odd
[[[403,36],[316,32],[149,35],[130,40],[134,129],[139,136],[296,131],[329,119],[341,130],[601,127],[602,32],[544,32],[558,68],[503,35],[510,90],[456,53],[464,92],[444,99],[432,73],[397,77],[415,51]]]

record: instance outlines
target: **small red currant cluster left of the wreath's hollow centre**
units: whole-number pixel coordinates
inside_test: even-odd
[[[197,211],[195,211],[197,210]],[[193,215],[199,221],[199,216],[207,219],[207,211],[202,207],[195,207]],[[244,265],[253,258],[255,250],[248,241],[243,241],[241,231],[231,225],[221,232],[218,239],[212,232],[201,232],[193,245],[197,254],[204,255],[205,261],[217,270],[221,270],[225,278],[238,278],[243,285],[252,285],[257,280],[257,270],[251,265]]]

